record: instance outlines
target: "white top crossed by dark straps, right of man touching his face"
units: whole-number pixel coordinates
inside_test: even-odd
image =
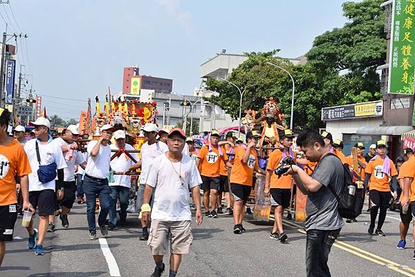
[[[111,149],[118,150],[118,147],[116,146],[116,144],[111,144]],[[136,150],[136,149],[134,149],[134,147],[131,146],[130,144],[125,144],[125,150]],[[129,153],[129,154],[137,162],[140,160],[138,159],[137,153]],[[113,158],[113,160],[111,161],[111,169],[117,172],[124,172],[127,169],[129,169],[129,167],[132,166],[133,164],[135,164],[135,162],[133,162],[133,160],[127,157],[127,155],[122,153],[120,157]],[[129,175],[114,175],[114,180],[116,182],[109,183],[110,186],[121,186],[121,187],[131,188],[131,176]]]

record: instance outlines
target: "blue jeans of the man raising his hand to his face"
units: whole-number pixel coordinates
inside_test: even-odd
[[[98,216],[98,224],[105,225],[105,220],[109,213],[109,205],[111,203],[111,189],[109,189],[108,179],[91,179],[85,175],[82,184],[86,197],[86,218],[88,219],[89,231],[95,231],[95,200],[100,198],[100,215]]]

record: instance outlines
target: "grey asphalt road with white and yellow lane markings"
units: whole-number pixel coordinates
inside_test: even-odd
[[[57,230],[47,234],[45,256],[27,249],[28,235],[19,218],[15,237],[22,239],[7,244],[0,276],[150,276],[154,262],[149,247],[138,240],[137,215],[129,214],[127,226],[110,231],[107,240],[89,241],[85,209],[75,204],[68,229],[62,229],[57,219]],[[396,249],[399,214],[388,211],[387,216],[386,237],[367,234],[366,212],[359,222],[344,226],[329,257],[332,276],[415,277],[412,239],[408,236],[407,249]],[[232,233],[230,216],[204,218],[203,225],[194,225],[191,254],[183,256],[178,276],[305,276],[306,236],[300,223],[285,220],[288,241],[282,244],[268,238],[272,222],[246,218],[248,231],[241,235]],[[168,267],[168,258],[165,263]]]

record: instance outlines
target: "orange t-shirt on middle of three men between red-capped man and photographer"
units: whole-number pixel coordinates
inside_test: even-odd
[[[258,155],[254,149],[250,150],[248,162],[244,164],[242,157],[245,155],[246,149],[243,146],[235,148],[234,164],[230,171],[230,183],[243,184],[252,187],[252,176],[255,166],[258,166]]]

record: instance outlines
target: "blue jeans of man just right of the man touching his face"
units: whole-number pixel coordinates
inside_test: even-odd
[[[109,207],[109,222],[114,226],[117,225],[117,199],[120,199],[120,220],[125,221],[127,218],[127,207],[129,202],[130,189],[122,186],[110,186],[111,205]]]

